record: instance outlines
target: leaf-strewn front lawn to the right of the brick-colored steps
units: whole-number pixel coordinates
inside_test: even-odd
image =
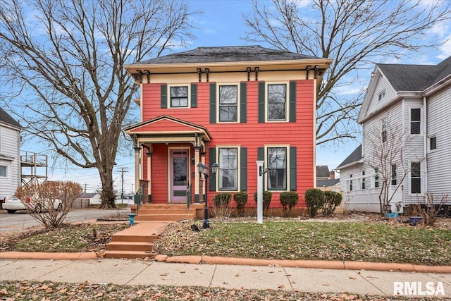
[[[154,249],[168,255],[451,265],[451,230],[372,222],[173,223]],[[199,228],[200,224],[197,223]]]

